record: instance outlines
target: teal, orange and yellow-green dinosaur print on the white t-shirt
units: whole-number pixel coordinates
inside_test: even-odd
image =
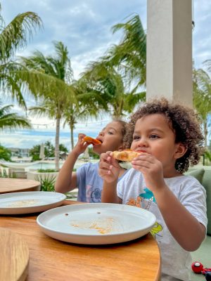
[[[152,202],[154,202],[156,204],[156,200],[153,195],[153,192],[151,192],[151,190],[149,190],[148,188],[144,188],[143,190],[145,192],[143,192],[139,196],[137,196],[136,199],[129,198],[127,205],[131,205],[131,206],[139,207],[139,208],[142,207],[143,209],[149,210]],[[143,204],[141,204],[141,202],[147,202],[146,207],[143,207],[142,206]],[[155,235],[161,236],[158,234],[161,231],[162,231],[162,226],[160,225],[160,223],[158,223],[156,221],[155,225],[151,229],[151,234],[153,235],[153,237],[155,237]]]

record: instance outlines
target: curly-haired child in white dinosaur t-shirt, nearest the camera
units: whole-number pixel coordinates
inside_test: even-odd
[[[162,257],[162,281],[190,280],[191,254],[205,239],[207,216],[205,189],[192,176],[203,135],[196,113],[165,98],[139,107],[127,126],[127,147],[141,154],[117,184],[120,171],[113,152],[101,155],[102,202],[135,204],[155,214],[153,235]]]

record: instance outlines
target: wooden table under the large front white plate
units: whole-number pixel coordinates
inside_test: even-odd
[[[65,204],[77,204],[66,200]],[[20,234],[30,250],[27,281],[160,280],[160,251],[151,234],[121,244],[87,246],[54,240],[37,214],[0,216],[0,227]]]

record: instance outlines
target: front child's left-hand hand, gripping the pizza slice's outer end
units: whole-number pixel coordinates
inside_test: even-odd
[[[107,183],[116,181],[120,174],[120,164],[112,157],[112,152],[108,151],[101,154],[98,174]]]

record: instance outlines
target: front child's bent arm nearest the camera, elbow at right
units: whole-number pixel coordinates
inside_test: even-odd
[[[187,251],[198,249],[205,238],[205,226],[192,216],[167,187],[161,162],[153,155],[143,153],[132,161],[132,166],[143,174],[146,186],[153,192],[174,239]]]

